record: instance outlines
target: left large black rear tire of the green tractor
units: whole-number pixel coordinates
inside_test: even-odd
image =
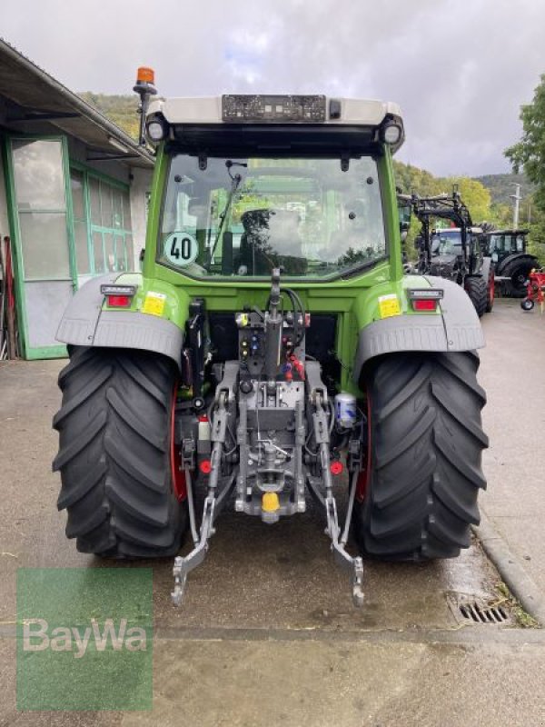
[[[54,416],[57,506],[78,551],[117,558],[172,555],[187,525],[174,492],[171,415],[177,372],[156,354],[74,348]]]

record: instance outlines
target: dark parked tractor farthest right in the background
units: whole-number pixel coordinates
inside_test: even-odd
[[[513,298],[526,295],[530,271],[540,267],[538,258],[527,251],[528,233],[528,230],[490,230],[481,237],[484,254],[494,264],[503,294]]]

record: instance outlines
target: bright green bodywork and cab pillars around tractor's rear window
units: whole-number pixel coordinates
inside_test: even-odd
[[[174,271],[157,263],[157,240],[160,237],[163,192],[168,174],[168,154],[163,145],[157,151],[157,163],[149,209],[148,227],[145,244],[142,274],[122,274],[117,284],[135,284],[137,293],[129,310],[144,312],[143,307],[149,293],[164,295],[162,312],[155,314],[173,322],[184,329],[189,304],[195,297],[204,298],[206,309],[210,312],[233,313],[243,310],[244,306],[265,307],[271,284],[268,280],[241,279],[201,279],[186,276],[182,271]],[[430,283],[418,276],[404,276],[401,263],[400,218],[396,198],[391,153],[384,146],[378,160],[381,177],[381,194],[384,224],[388,241],[388,259],[376,264],[372,269],[355,274],[346,279],[338,278],[328,282],[308,283],[304,279],[289,279],[289,285],[302,297],[309,313],[332,313],[337,315],[336,355],[341,362],[342,376],[339,382],[343,391],[358,393],[352,379],[352,366],[359,332],[381,318],[391,315],[381,306],[382,296],[395,295],[399,312],[396,315],[440,315],[440,311],[415,314],[407,295],[408,288],[428,288]],[[390,298],[390,300],[392,300]],[[394,304],[394,307],[395,306]],[[104,302],[104,310],[109,310]],[[111,309],[114,310],[114,309]],[[119,309],[115,309],[119,310]]]

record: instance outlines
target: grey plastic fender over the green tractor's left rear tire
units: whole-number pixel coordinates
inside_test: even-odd
[[[67,305],[56,338],[63,344],[153,351],[173,359],[180,368],[183,329],[158,315],[103,310],[100,286],[113,284],[120,273],[93,278]],[[119,281],[121,283],[121,280]]]

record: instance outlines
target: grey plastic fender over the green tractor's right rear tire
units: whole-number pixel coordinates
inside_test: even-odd
[[[424,277],[432,288],[443,290],[441,314],[392,315],[362,328],[353,367],[354,381],[360,381],[364,364],[382,354],[472,351],[484,347],[479,317],[464,289],[441,277]]]

